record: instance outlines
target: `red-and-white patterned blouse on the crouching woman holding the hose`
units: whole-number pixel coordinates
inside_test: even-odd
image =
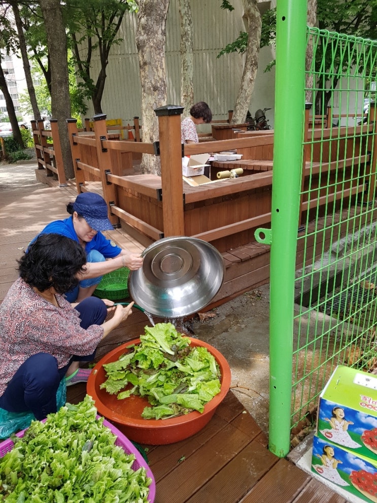
[[[100,325],[80,327],[79,313],[62,295],[59,307],[18,278],[0,306],[0,396],[19,366],[37,353],[49,353],[61,368],[73,355],[93,353],[104,336]]]

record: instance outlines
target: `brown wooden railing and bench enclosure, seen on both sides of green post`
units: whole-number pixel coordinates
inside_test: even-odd
[[[113,225],[124,227],[145,246],[161,237],[186,235],[209,241],[224,252],[254,241],[255,229],[268,226],[271,220],[273,131],[238,131],[235,138],[185,145],[182,152],[181,117],[177,109],[180,107],[157,109],[159,142],[154,144],[130,142],[110,133],[106,115],[94,117],[94,130],[90,132],[79,132],[76,120],[68,119],[78,193],[90,190],[91,180],[100,180]],[[318,131],[309,128],[309,111],[305,127],[308,140],[321,142],[312,141],[310,147],[304,146],[302,193],[306,195],[302,196],[300,219],[312,209],[317,211],[318,206],[336,204],[365,190],[364,184],[352,181],[352,168],[357,165],[367,175],[368,161],[370,158],[376,161],[376,149],[371,155],[366,154],[371,145],[366,146],[363,140],[372,125],[357,126],[354,135],[359,140],[352,145],[347,128]],[[368,138],[370,142],[370,135]],[[330,147],[335,140],[336,151]],[[229,150],[243,153],[243,160],[248,159],[254,165],[263,161],[268,169],[257,173],[245,170],[238,178],[195,187],[183,181],[183,154]],[[161,176],[125,176],[132,172],[135,153],[159,155]],[[319,175],[327,176],[326,173],[331,182],[330,192],[326,197],[321,193],[311,199],[313,190],[307,191],[307,184],[312,189],[316,183],[319,186]],[[370,186],[370,197],[374,186],[375,181]]]

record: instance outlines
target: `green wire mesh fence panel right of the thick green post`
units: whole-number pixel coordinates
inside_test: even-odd
[[[293,433],[336,365],[377,365],[377,42],[310,28],[306,47]]]

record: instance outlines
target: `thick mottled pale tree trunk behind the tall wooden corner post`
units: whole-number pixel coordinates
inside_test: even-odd
[[[166,105],[165,38],[169,0],[140,0],[136,47],[139,51],[142,84],[143,141],[158,140],[158,119],[154,110]],[[161,173],[159,158],[143,154],[142,173]]]

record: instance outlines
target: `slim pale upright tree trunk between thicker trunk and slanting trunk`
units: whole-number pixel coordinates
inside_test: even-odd
[[[179,0],[179,12],[181,20],[181,105],[184,107],[183,116],[188,117],[190,108],[194,104],[194,43],[190,0]]]

